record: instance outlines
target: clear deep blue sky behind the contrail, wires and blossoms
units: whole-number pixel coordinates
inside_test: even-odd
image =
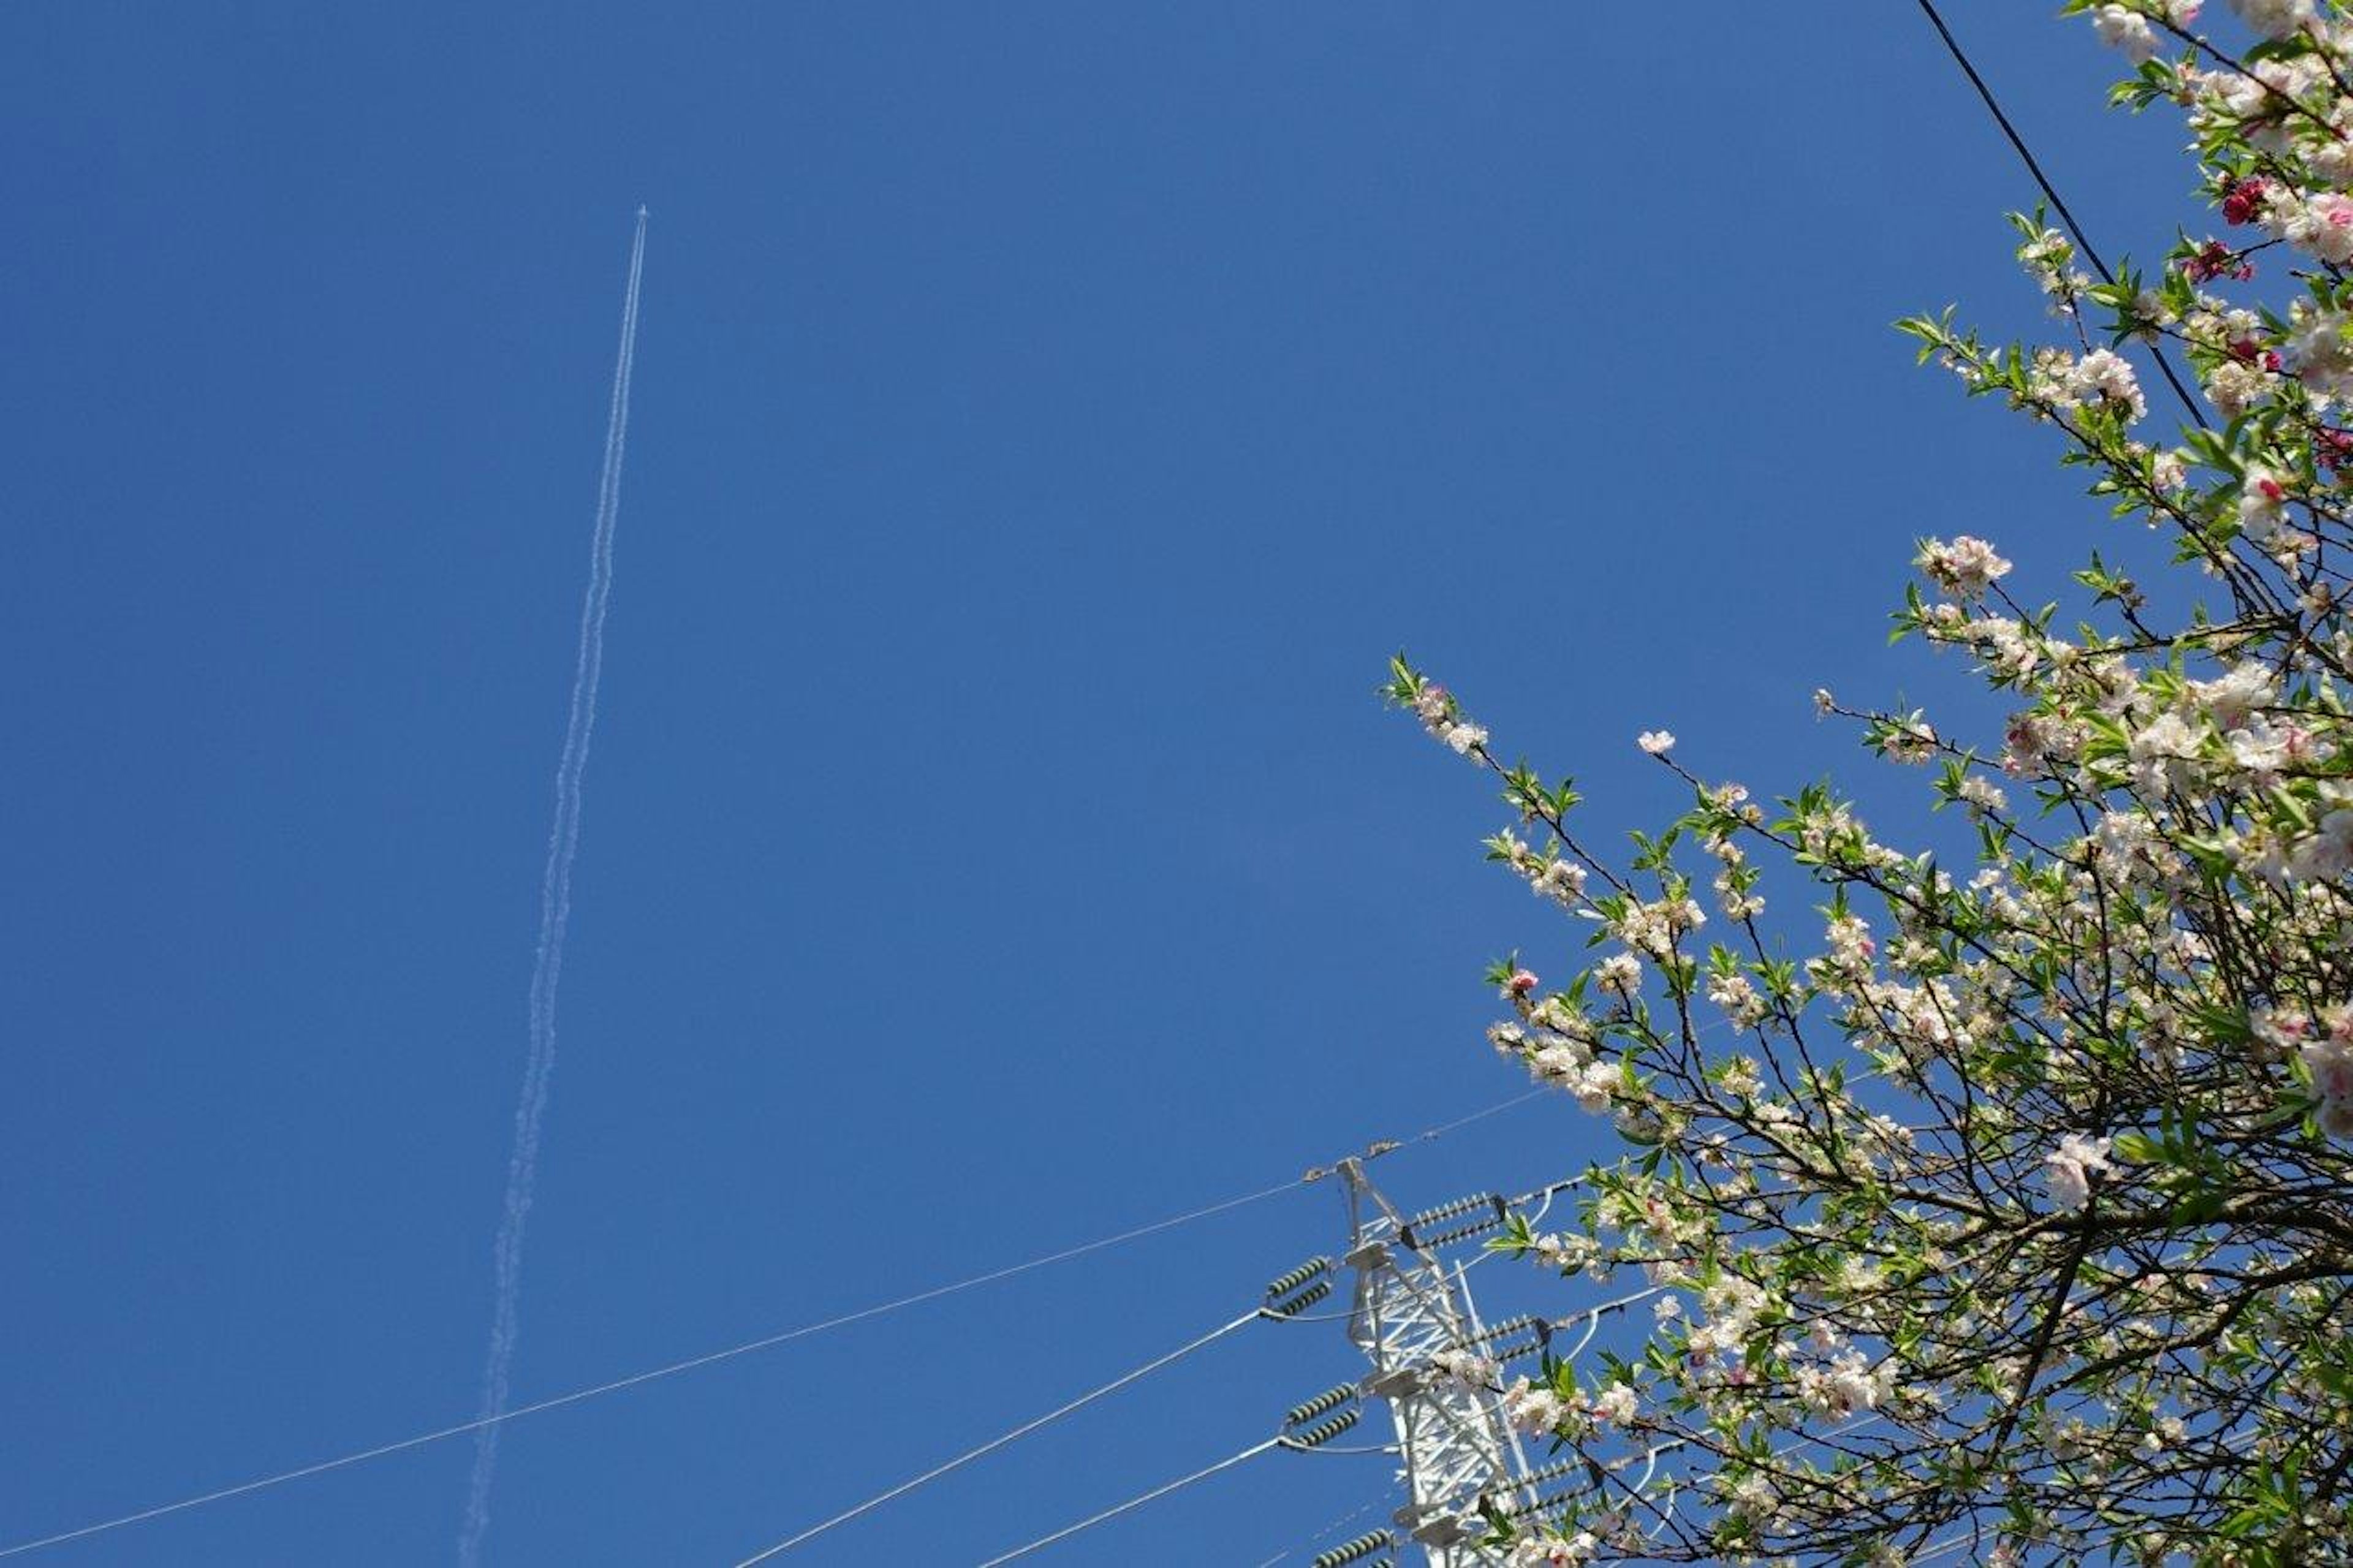
[[[1981,12],[1981,14],[1979,14]],[[2169,120],[1955,26],[2111,254]],[[1911,7],[141,7],[0,16],[0,1544],[464,1420],[631,212],[605,706],[518,1398],[1494,1104],[1574,932],[1372,697],[1400,645],[1602,836],[1868,779],[1807,695],[1911,542],[2097,509],[1887,323],[2040,330]],[[1522,1107],[1421,1205],[1602,1144]],[[713,1563],[1245,1307],[1311,1189],[518,1422],[489,1559]],[[1242,1335],[788,1561],[972,1561],[1351,1373]],[[56,1563],[452,1554],[466,1443]],[[1273,1455],[1061,1561],[1259,1563]],[[1052,1559],[1042,1559],[1052,1561]]]

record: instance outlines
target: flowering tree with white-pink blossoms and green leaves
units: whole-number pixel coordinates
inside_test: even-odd
[[[1513,1561],[2353,1561],[2353,21],[2066,12],[2134,66],[2118,101],[2186,111],[2214,233],[2094,278],[2021,217],[2064,341],[1901,327],[2167,537],[2167,598],[2200,603],[2094,553],[2066,629],[1984,539],[1920,546],[1899,624],[2005,695],[2005,735],[1817,704],[1927,770],[1974,864],[1828,786],[1767,808],[1664,732],[1640,746],[1692,810],[1614,864],[1569,784],[1391,671],[1501,779],[1492,857],[1602,949],[1560,989],[1492,977],[1494,1045],[1628,1144],[1581,1234],[1499,1245],[1661,1288],[1598,1375],[1433,1368],[1591,1460],[1562,1519],[1497,1521]],[[2137,370],[2162,356],[2172,443]],[[1814,890],[1819,942],[1767,928],[1767,871]],[[1638,1483],[1668,1453],[1673,1495]]]

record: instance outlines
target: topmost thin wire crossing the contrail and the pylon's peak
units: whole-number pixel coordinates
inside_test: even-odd
[[[1492,1107],[1487,1107],[1482,1111],[1471,1111],[1468,1116],[1459,1116],[1459,1118],[1454,1118],[1449,1123],[1440,1123],[1435,1128],[1424,1128],[1421,1132],[1414,1132],[1412,1137],[1405,1137],[1405,1140],[1377,1142],[1377,1144],[1372,1144],[1372,1149],[1365,1151],[1362,1158],[1377,1158],[1381,1154],[1391,1154],[1391,1151],[1409,1147],[1409,1144],[1433,1142],[1433,1140],[1445,1137],[1447,1132],[1452,1132],[1457,1128],[1471,1125],[1473,1121],[1480,1121],[1485,1116],[1497,1116],[1501,1111],[1508,1111],[1515,1104],[1525,1104],[1537,1092],[1541,1092],[1541,1090],[1532,1090],[1527,1095],[1515,1095],[1515,1097],[1504,1099],[1499,1104],[1492,1104]],[[454,1436],[466,1436],[471,1431],[482,1431],[485,1427],[499,1427],[504,1422],[515,1422],[515,1420],[522,1420],[525,1415],[539,1415],[544,1410],[558,1410],[562,1406],[576,1406],[576,1403],[584,1403],[584,1401],[591,1401],[591,1398],[602,1398],[605,1394],[619,1394],[621,1389],[635,1389],[638,1384],[659,1382],[664,1377],[675,1377],[680,1373],[692,1373],[692,1370],[706,1368],[706,1366],[718,1366],[720,1361],[734,1361],[736,1356],[751,1356],[753,1351],[774,1349],[774,1347],[788,1344],[793,1340],[807,1340],[809,1335],[821,1335],[821,1333],[828,1333],[833,1328],[847,1328],[852,1323],[864,1323],[866,1318],[880,1318],[880,1316],[885,1316],[889,1311],[901,1311],[906,1307],[920,1307],[922,1302],[936,1302],[936,1300],[941,1300],[946,1295],[958,1295],[962,1290],[974,1290],[979,1285],[991,1285],[991,1283],[1002,1281],[1002,1278],[1014,1278],[1016,1274],[1028,1274],[1033,1269],[1045,1269],[1047,1264],[1059,1264],[1059,1262],[1068,1262],[1073,1257],[1085,1257],[1089,1253],[1101,1253],[1106,1248],[1115,1248],[1115,1245],[1127,1243],[1127,1241],[1141,1241],[1144,1236],[1155,1236],[1160,1231],[1169,1231],[1169,1229],[1176,1229],[1181,1224],[1193,1224],[1198,1220],[1209,1220],[1214,1215],[1224,1215],[1224,1212],[1245,1208],[1249,1203],[1264,1203],[1266,1198],[1278,1198],[1278,1196],[1282,1196],[1287,1191],[1294,1191],[1299,1187],[1318,1182],[1325,1175],[1329,1175],[1325,1168],[1311,1168],[1306,1175],[1292,1177],[1289,1182],[1278,1182],[1275,1187],[1261,1187],[1259,1191],[1247,1191],[1247,1194],[1240,1194],[1235,1198],[1224,1198],[1219,1203],[1207,1203],[1202,1208],[1186,1210],[1181,1215],[1169,1215],[1167,1220],[1153,1220],[1151,1224],[1139,1224],[1139,1227],[1118,1231],[1113,1236],[1101,1236],[1096,1241],[1082,1241],[1082,1243],[1078,1243],[1073,1248],[1061,1248],[1059,1253],[1045,1253],[1040,1257],[1031,1257],[1026,1262],[1007,1264],[1002,1269],[991,1269],[986,1274],[974,1274],[974,1276],[967,1276],[967,1278],[960,1278],[960,1281],[951,1281],[946,1285],[934,1285],[929,1290],[918,1290],[913,1295],[901,1295],[901,1297],[894,1297],[894,1300],[887,1300],[887,1302],[878,1302],[873,1307],[861,1307],[856,1311],[845,1311],[845,1314],[840,1314],[835,1318],[824,1318],[819,1323],[802,1323],[798,1328],[786,1328],[781,1333],[765,1335],[760,1340],[746,1340],[744,1344],[729,1344],[727,1349],[708,1351],[704,1356],[689,1356],[685,1361],[671,1361],[666,1366],[656,1366],[656,1368],[649,1368],[645,1373],[631,1373],[628,1377],[614,1377],[612,1382],[600,1382],[600,1384],[593,1384],[593,1387],[586,1387],[586,1389],[572,1389],[569,1394],[555,1394],[551,1398],[541,1398],[541,1401],[534,1401],[534,1403],[527,1403],[527,1406],[513,1406],[513,1408],[499,1410],[494,1415],[480,1415],[480,1417],[475,1417],[471,1422],[454,1422],[449,1427],[435,1427],[433,1431],[419,1431],[416,1436],[405,1436],[405,1439],[398,1439],[393,1443],[379,1443],[374,1448],[360,1448],[355,1453],[344,1453],[344,1455],[336,1455],[332,1460],[318,1460],[313,1464],[301,1464],[301,1467],[294,1467],[294,1469],[282,1469],[282,1471],[271,1474],[271,1476],[259,1476],[254,1481],[240,1481],[235,1486],[224,1486],[224,1488],[216,1488],[216,1490],[209,1490],[209,1493],[198,1493],[193,1497],[179,1497],[174,1502],[160,1502],[155,1507],[136,1509],[132,1514],[120,1514],[115,1519],[101,1519],[96,1523],[78,1526],[73,1530],[59,1530],[54,1535],[42,1535],[38,1540],[21,1540],[21,1542],[0,1547],[0,1559],[21,1556],[26,1552],[40,1552],[45,1547],[61,1547],[61,1544],[73,1542],[73,1540],[87,1540],[92,1535],[104,1535],[108,1530],[120,1530],[120,1528],[127,1528],[127,1526],[134,1526],[134,1523],[146,1523],[151,1519],[165,1519],[167,1514],[184,1514],[188,1509],[198,1509],[198,1507],[205,1507],[209,1502],[226,1502],[231,1497],[245,1497],[249,1493],[261,1493],[261,1490],[268,1490],[268,1488],[275,1488],[275,1486],[287,1486],[289,1481],[304,1481],[308,1476],[322,1476],[327,1471],[348,1469],[353,1464],[365,1464],[369,1460],[384,1460],[384,1457],[395,1455],[395,1453],[407,1453],[412,1448],[426,1448],[428,1443],[440,1443],[440,1441],[447,1441],[447,1439],[454,1439]]]

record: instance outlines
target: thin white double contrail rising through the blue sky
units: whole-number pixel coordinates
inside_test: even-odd
[[[638,358],[638,278],[645,273],[645,207],[628,247],[628,292],[621,297],[621,353],[612,367],[612,412],[605,421],[605,476],[595,497],[595,537],[588,546],[588,596],[581,600],[581,650],[572,666],[572,718],[565,756],[555,768],[555,824],[548,829],[548,869],[539,883],[539,954],[532,961],[529,1050],[522,1062],[522,1099],[515,1104],[515,1149],[506,1161],[506,1210],[499,1217],[496,1307],[489,1321],[489,1358],[482,1368],[482,1417],[506,1410],[506,1375],[515,1361],[515,1307],[522,1295],[522,1224],[532,1215],[539,1177],[539,1123],[548,1111],[548,1076],[555,1071],[555,984],[565,970],[565,923],[572,918],[572,857],[581,843],[581,772],[595,730],[595,687],[605,673],[605,605],[612,598],[612,530],[621,518],[621,454],[628,447],[628,374]],[[456,1561],[482,1561],[489,1528],[489,1481],[499,1469],[499,1424],[475,1431],[473,1483],[466,1493],[466,1526]]]

